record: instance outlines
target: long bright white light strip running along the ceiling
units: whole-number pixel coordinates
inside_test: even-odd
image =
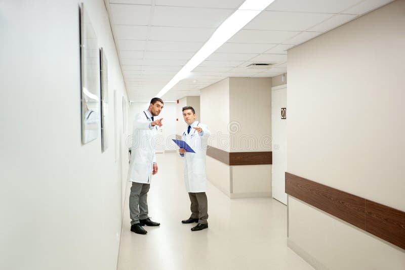
[[[274,0],[246,0],[231,16],[229,16],[218,28],[210,39],[199,51],[177,72],[177,74],[163,87],[156,97],[165,95],[180,80],[190,74],[201,62],[207,59],[229,38],[247,25],[253,18],[262,12]]]

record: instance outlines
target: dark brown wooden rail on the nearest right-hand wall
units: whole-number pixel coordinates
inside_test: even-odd
[[[288,172],[286,193],[405,249],[405,212]]]

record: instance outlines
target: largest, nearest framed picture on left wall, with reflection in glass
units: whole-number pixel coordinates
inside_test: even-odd
[[[99,50],[96,32],[83,6],[80,20],[80,88],[82,103],[82,144],[98,137],[100,122]]]

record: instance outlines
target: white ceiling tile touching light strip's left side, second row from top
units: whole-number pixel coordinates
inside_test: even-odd
[[[177,26],[217,28],[233,10],[162,7],[154,8],[153,26]]]

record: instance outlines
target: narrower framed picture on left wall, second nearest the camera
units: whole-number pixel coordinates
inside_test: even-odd
[[[101,95],[101,151],[108,148],[108,67],[103,48],[100,48],[100,95]]]

